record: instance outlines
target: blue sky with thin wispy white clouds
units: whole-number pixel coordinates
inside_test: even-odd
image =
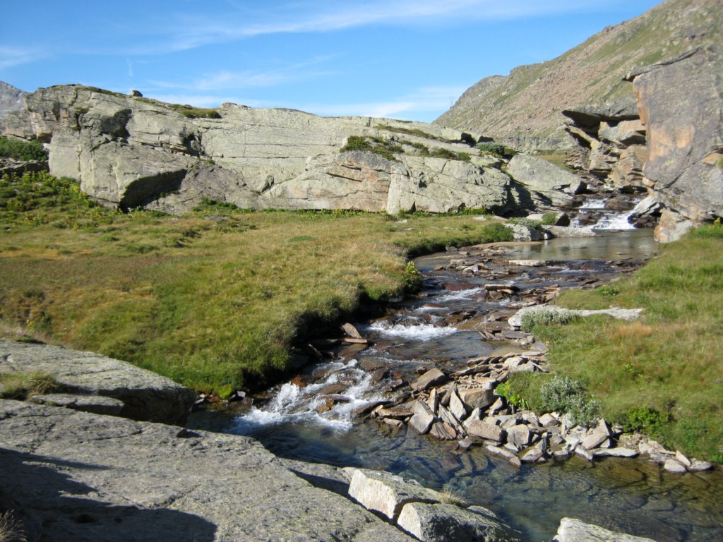
[[[214,107],[432,121],[479,79],[658,0],[40,0],[0,19],[0,80]]]

